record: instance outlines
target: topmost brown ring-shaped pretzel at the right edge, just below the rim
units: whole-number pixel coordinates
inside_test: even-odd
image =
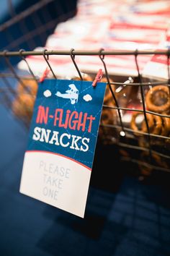
[[[146,106],[148,110],[157,113],[169,111],[169,88],[165,85],[156,85],[148,90],[148,93],[146,93]]]

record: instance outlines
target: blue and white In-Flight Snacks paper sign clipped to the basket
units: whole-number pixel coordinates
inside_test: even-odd
[[[20,192],[84,217],[106,83],[39,85]]]

